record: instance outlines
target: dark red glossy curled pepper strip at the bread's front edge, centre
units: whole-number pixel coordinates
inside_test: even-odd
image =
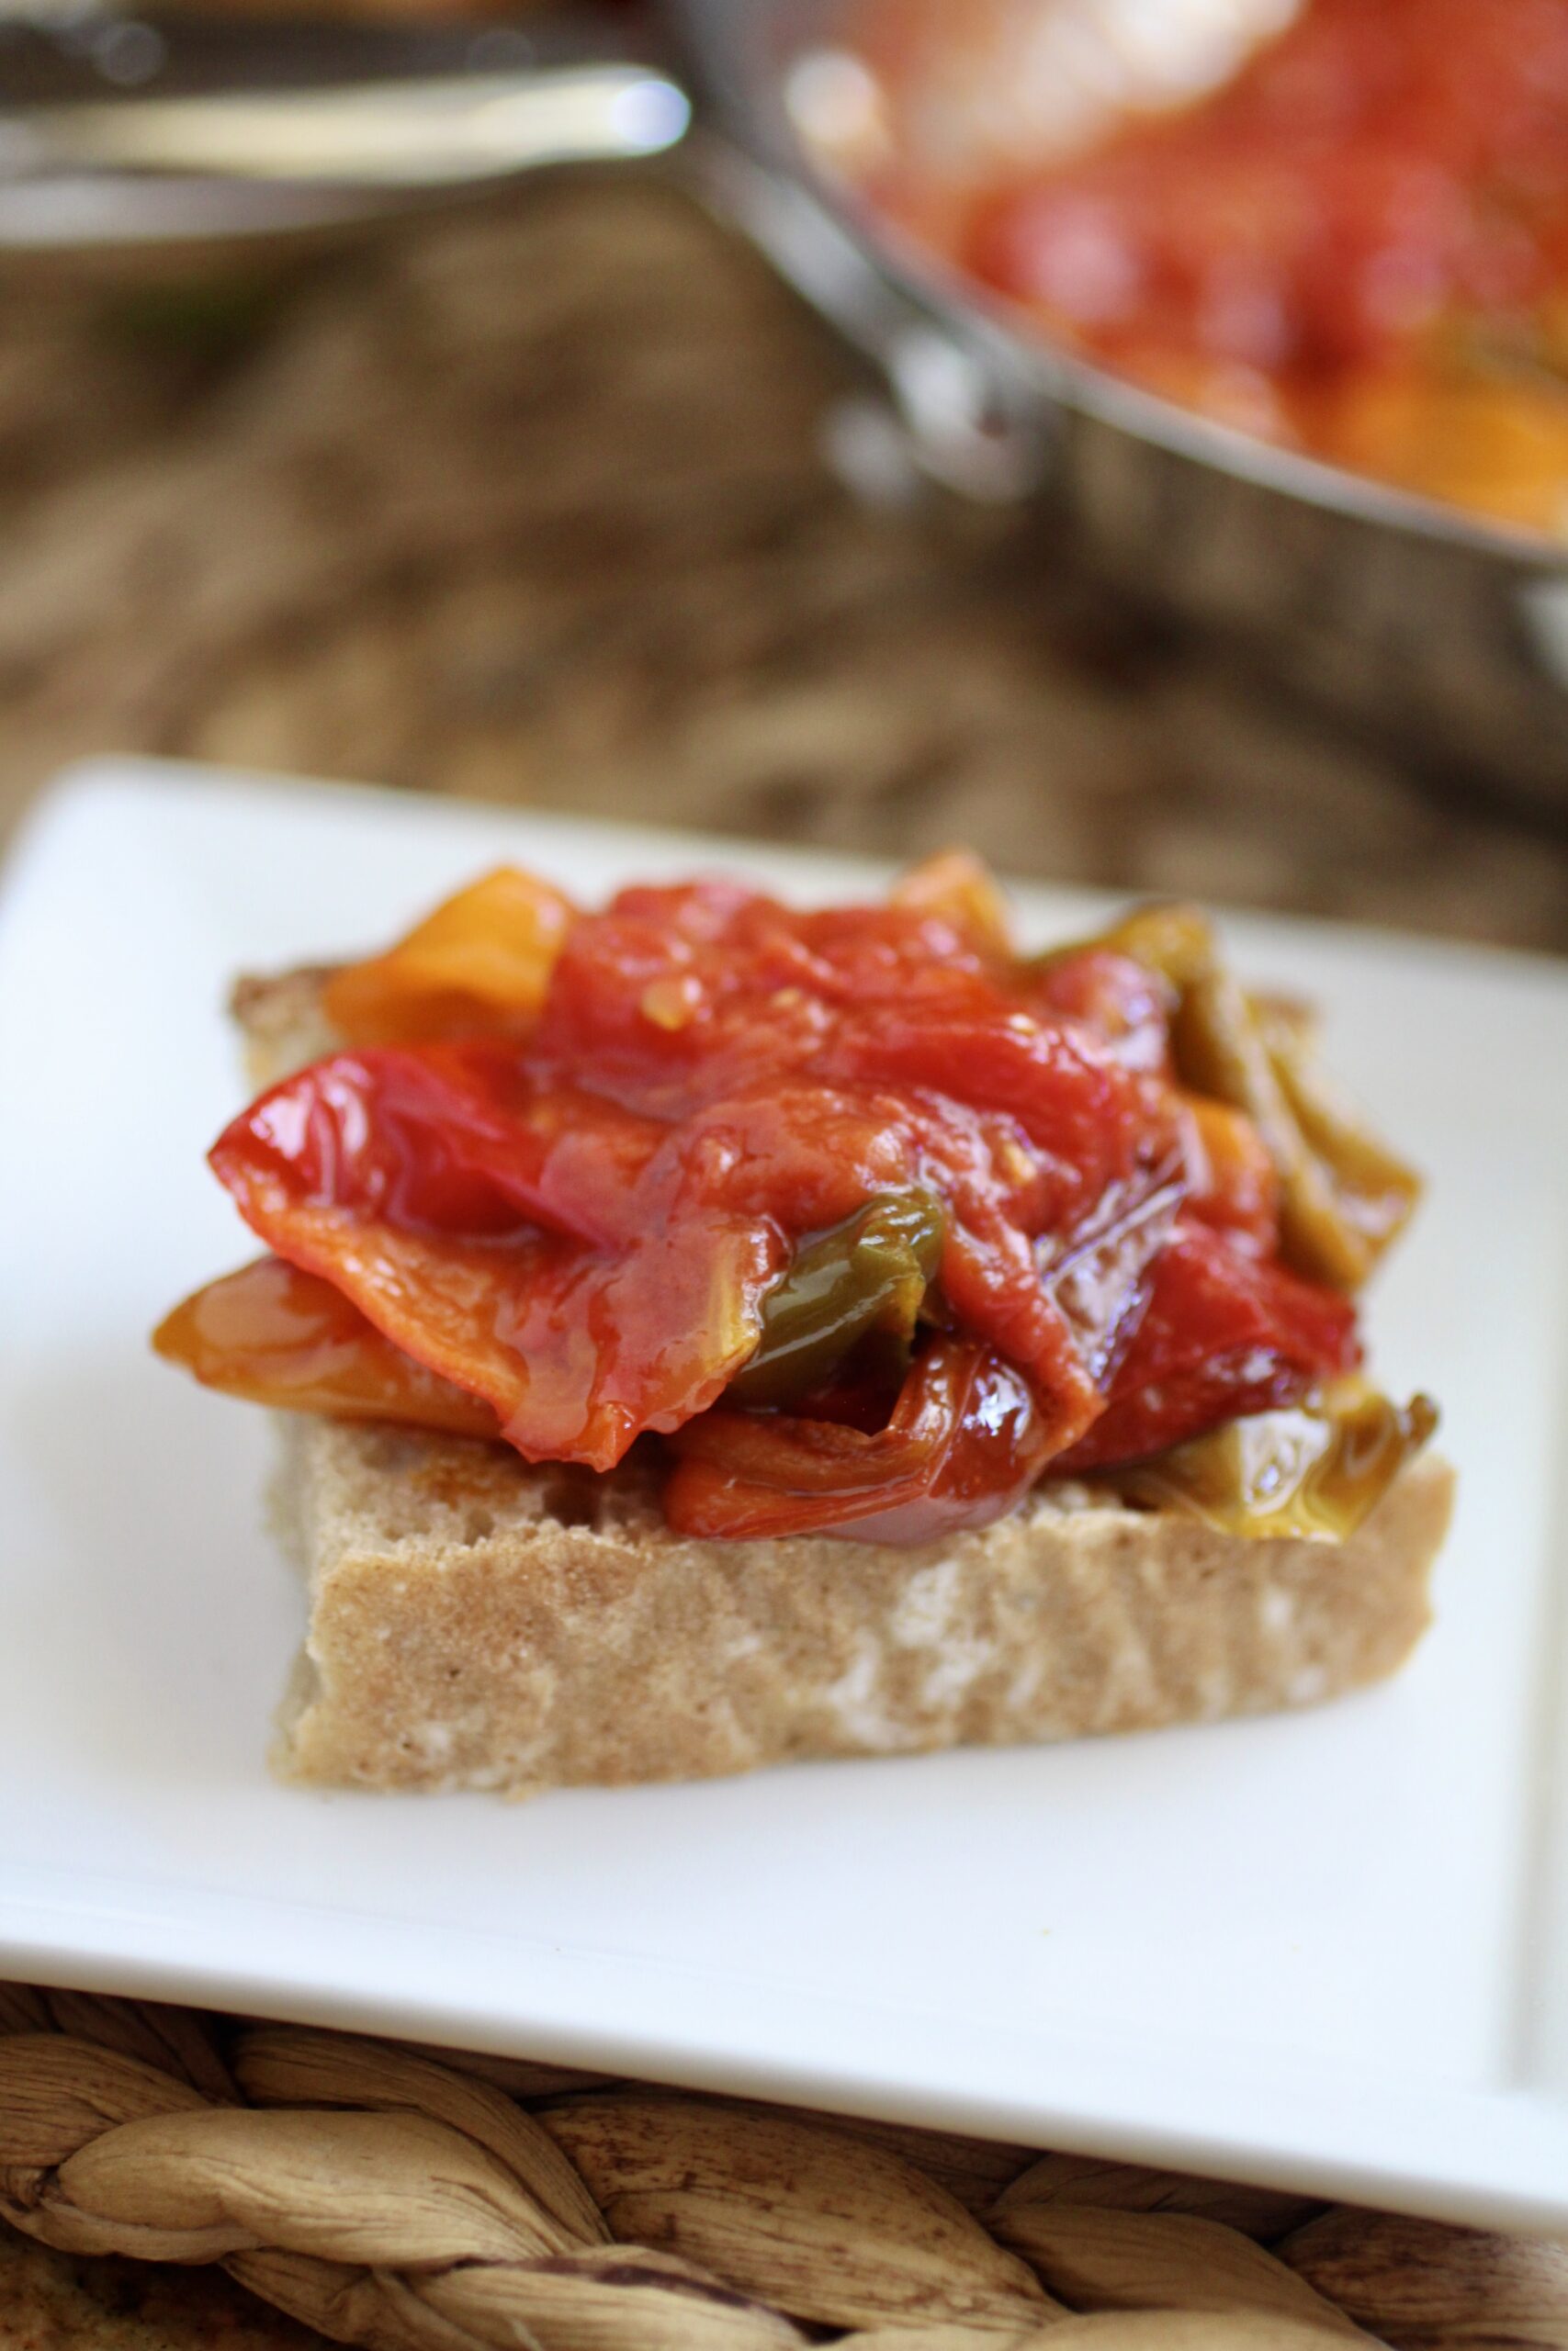
[[[872,1436],[724,1408],[686,1422],[670,1439],[665,1519],[698,1540],[936,1542],[1013,1509],[1053,1446],[1051,1415],[1011,1364],[936,1338]]]

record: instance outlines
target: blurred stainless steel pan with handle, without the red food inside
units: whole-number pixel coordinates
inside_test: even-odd
[[[541,162],[672,150],[872,362],[919,473],[1032,501],[1131,595],[1225,630],[1455,785],[1563,816],[1568,548],[1197,418],[900,249],[792,110],[844,19],[842,0],[423,35],[78,19],[12,40],[9,73],[0,49],[0,247],[320,233]],[[110,87],[127,66],[136,87]]]

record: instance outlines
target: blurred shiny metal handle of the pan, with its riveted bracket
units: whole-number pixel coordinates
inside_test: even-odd
[[[259,197],[270,188],[270,202],[397,207],[543,165],[646,162],[682,148],[684,186],[872,362],[879,390],[839,414],[860,444],[879,435],[910,480],[969,498],[1037,489],[1053,407],[1009,364],[1004,339],[987,343],[900,284],[806,179],[708,120],[691,129],[663,31],[661,14],[599,5],[545,9],[527,33],[292,26],[259,47],[221,19],[122,16],[103,54],[35,40],[12,59],[0,195],[7,181],[66,181],[103,190],[113,207],[115,186],[122,197],[136,188],[143,205],[162,186],[200,233],[214,202],[233,207],[223,190],[247,186]],[[108,96],[106,82],[122,87]]]

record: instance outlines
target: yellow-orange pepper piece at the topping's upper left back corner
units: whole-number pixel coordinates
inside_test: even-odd
[[[334,971],[327,1018],[350,1044],[515,1034],[545,1002],[571,922],[557,889],[498,865],[386,955]]]

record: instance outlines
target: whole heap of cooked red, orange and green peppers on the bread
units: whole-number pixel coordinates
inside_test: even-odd
[[[1051,1462],[1295,1406],[1359,1347],[1281,1220],[1300,1248],[1333,1168],[1371,1258],[1406,1206],[1201,917],[1027,964],[966,860],[818,915],[726,882],[576,915],[494,875],[341,983],[341,1020],[416,1041],[233,1121],[214,1166],[289,1265],[160,1347],[531,1460],[668,1436],[686,1531],[924,1540]]]

